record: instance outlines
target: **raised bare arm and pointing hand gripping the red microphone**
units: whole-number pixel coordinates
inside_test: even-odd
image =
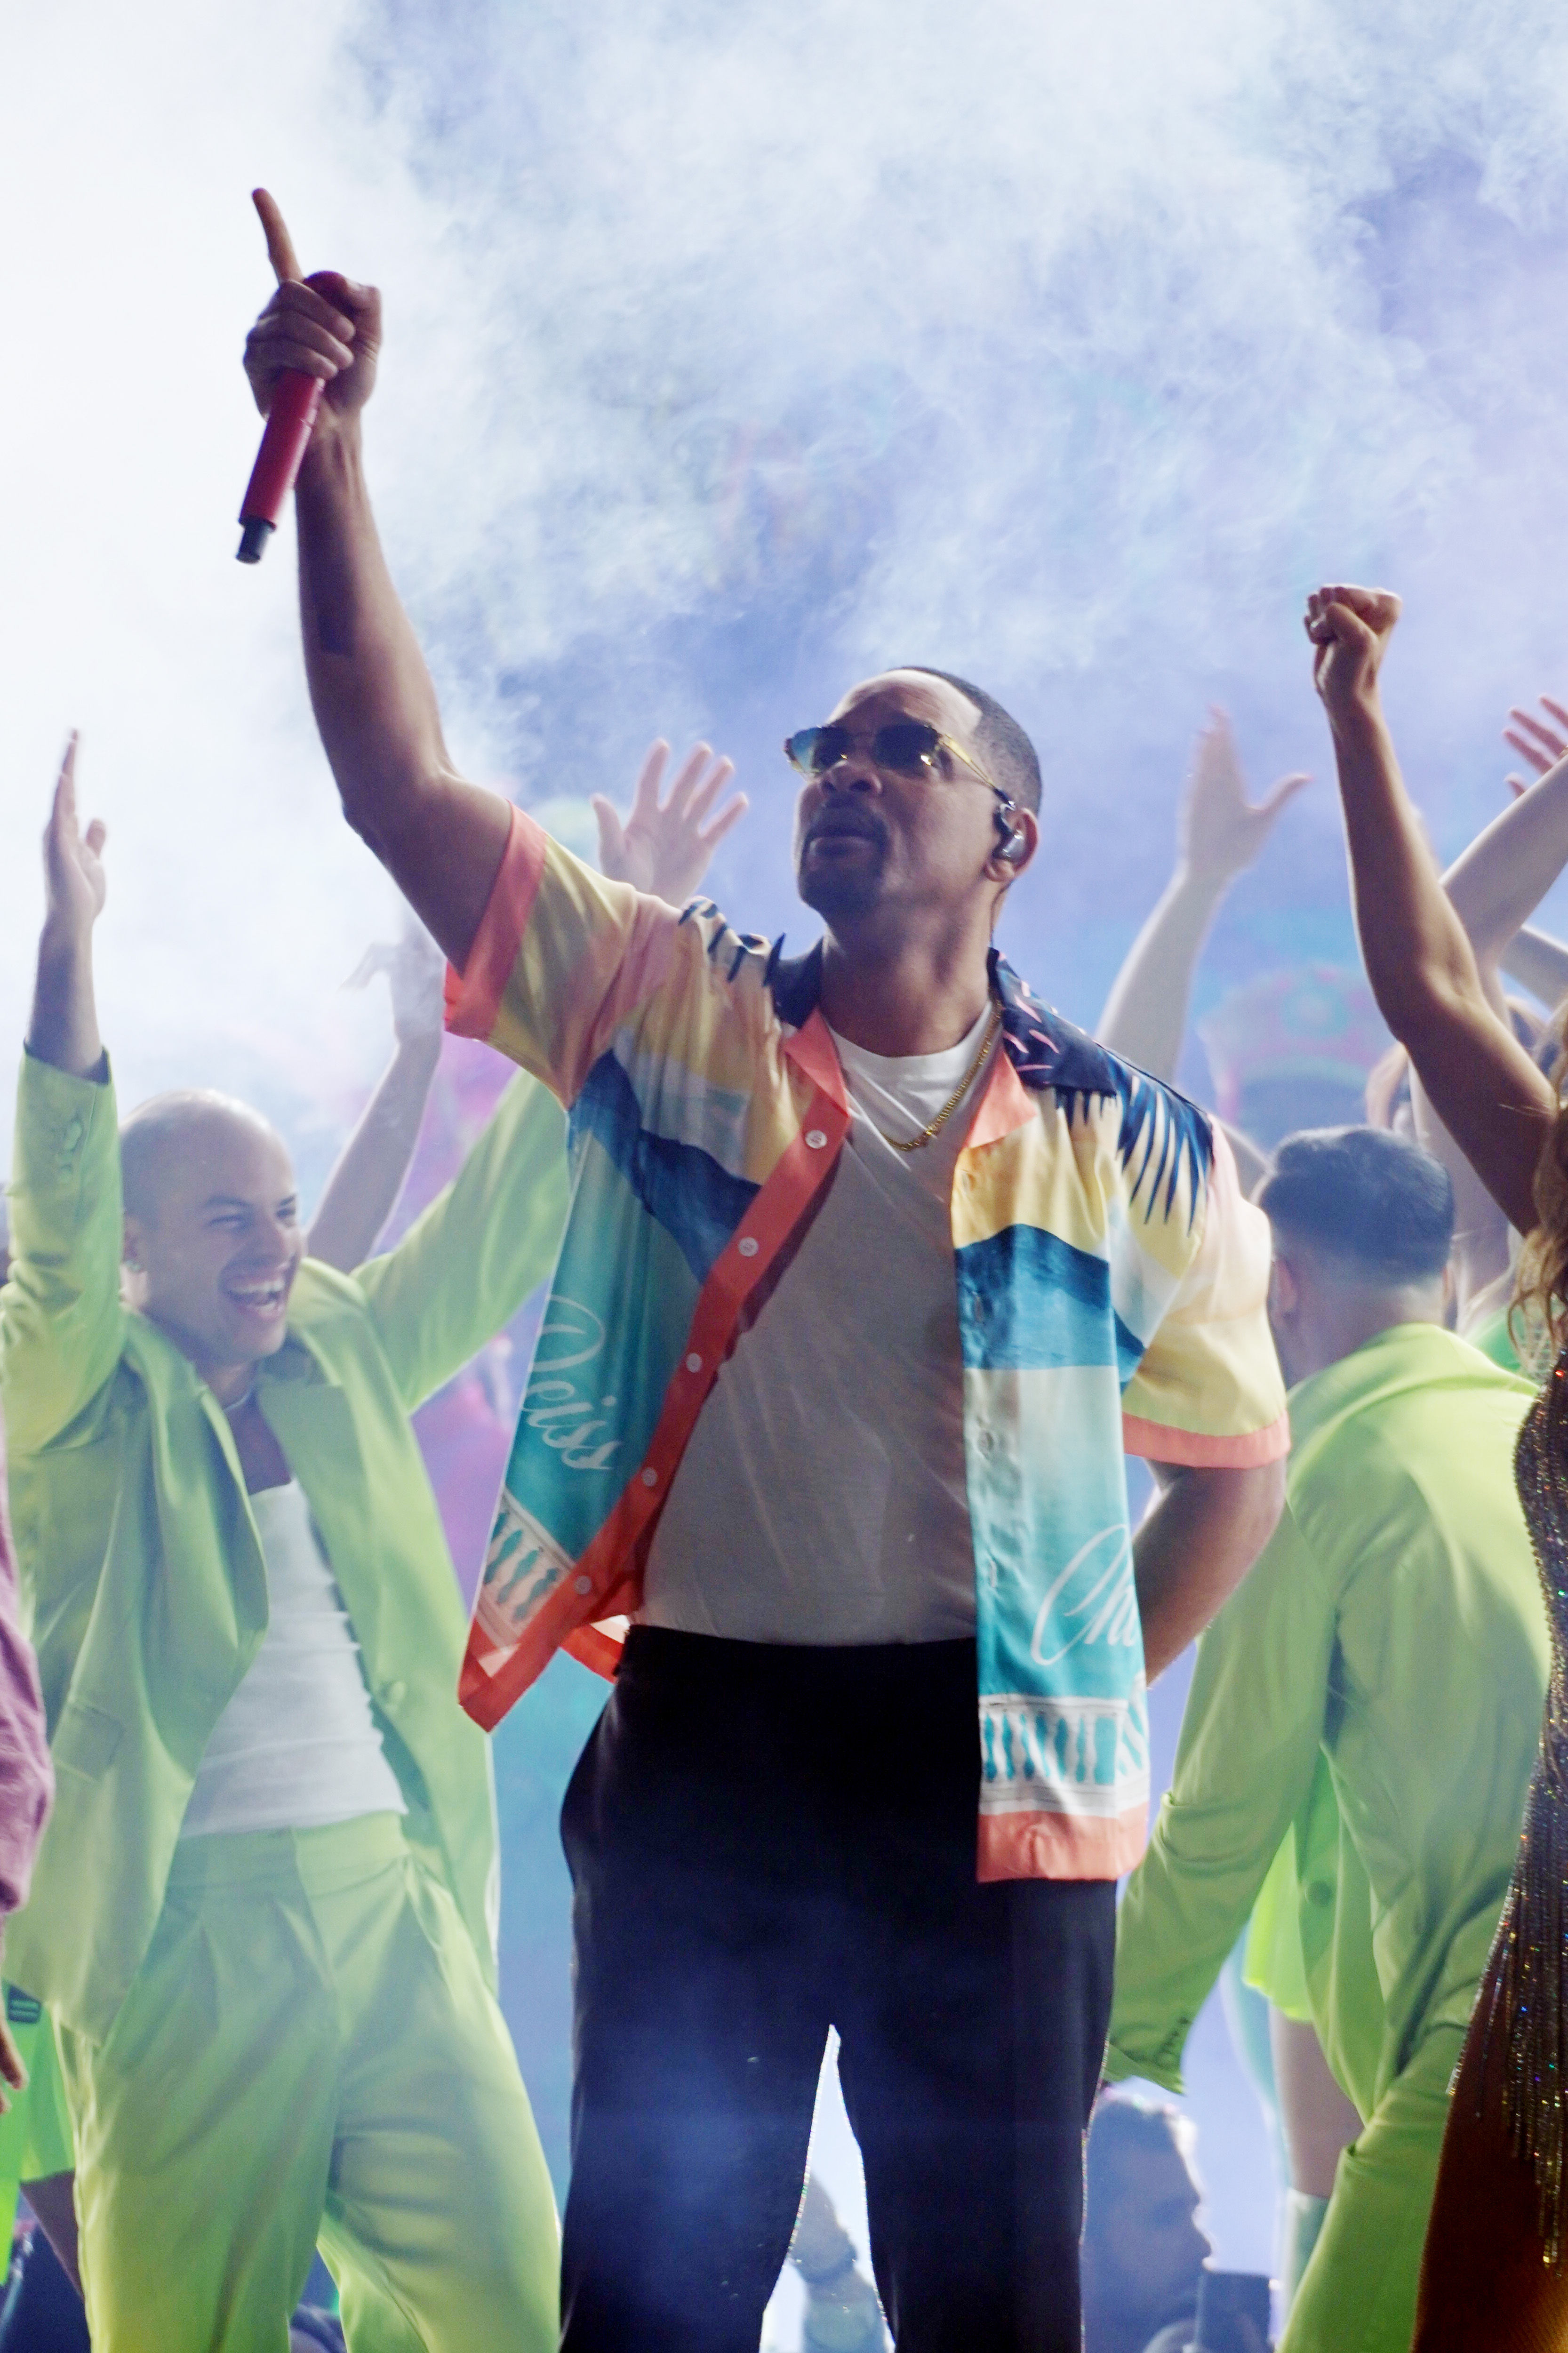
[[[325,384],[299,471],[299,607],[315,725],[344,816],[461,967],[501,866],[509,805],[466,784],[440,734],[436,689],[391,584],[360,447],[381,351],[381,296],[337,271],[304,280],[283,214],[257,191],[278,292],[245,344],[266,414],[285,369]]]

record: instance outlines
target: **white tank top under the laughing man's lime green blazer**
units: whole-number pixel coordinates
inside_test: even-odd
[[[318,1831],[358,1814],[405,1814],[370,1713],[344,1595],[304,1489],[264,1487],[250,1508],[266,1562],[261,1649],[212,1727],[181,1838]]]

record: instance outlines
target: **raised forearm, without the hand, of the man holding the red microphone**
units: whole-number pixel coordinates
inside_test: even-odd
[[[297,508],[306,678],[344,816],[461,969],[509,809],[447,758],[436,687],[381,553],[358,419],[311,442]]]

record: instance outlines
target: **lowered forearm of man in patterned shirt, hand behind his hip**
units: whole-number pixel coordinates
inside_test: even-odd
[[[1163,1494],[1132,1544],[1149,1682],[1203,1633],[1274,1534],[1285,1466],[1165,1468]]]

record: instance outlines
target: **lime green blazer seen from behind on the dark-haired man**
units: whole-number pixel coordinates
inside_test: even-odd
[[[1429,2026],[1469,2021],[1547,1689],[1514,1489],[1533,1395],[1436,1325],[1380,1332],[1290,1393],[1285,1513],[1198,1642],[1121,1906],[1111,2078],[1182,2089],[1191,2021],[1288,1831],[1314,2024],[1361,2113]],[[1311,1835],[1318,1760],[1342,1873],[1337,1833]],[[1337,1918],[1349,1901],[1361,1922]],[[1368,1925],[1375,1974],[1349,1965]]]

